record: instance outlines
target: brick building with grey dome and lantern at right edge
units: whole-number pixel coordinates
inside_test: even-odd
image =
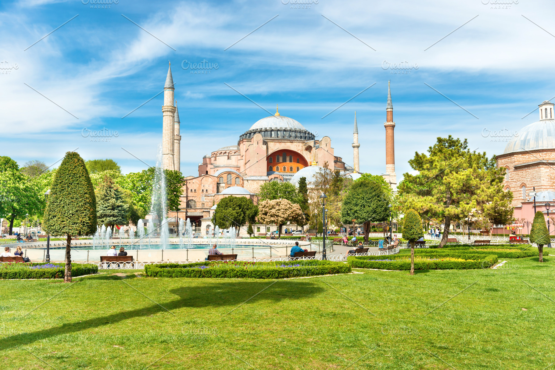
[[[555,112],[553,104],[539,104],[539,121],[522,128],[497,156],[497,165],[507,169],[504,189],[513,192],[514,217],[532,221],[536,191],[536,210],[546,212],[544,204],[555,208]],[[551,199],[553,197],[553,199]],[[551,212],[550,212],[551,213]]]

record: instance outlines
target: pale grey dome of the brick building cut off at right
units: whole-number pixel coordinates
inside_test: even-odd
[[[503,154],[542,149],[555,149],[555,120],[553,119],[543,119],[522,128],[509,141]]]

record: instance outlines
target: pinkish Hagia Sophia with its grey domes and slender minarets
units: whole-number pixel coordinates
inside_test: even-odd
[[[174,83],[171,66],[164,84],[163,111],[163,168],[179,170],[180,140],[179,114],[174,104]],[[386,174],[384,178],[395,189],[395,148],[393,144],[393,105],[388,87],[386,129]],[[179,215],[169,212],[169,217],[190,219],[196,229],[209,226],[215,205],[225,196],[245,196],[258,202],[256,194],[267,181],[286,181],[294,185],[301,177],[307,183],[327,164],[345,176],[358,178],[359,130],[356,113],[353,130],[353,165],[346,164],[334,154],[330,136],[316,139],[295,119],[276,113],[256,121],[239,135],[235,145],[212,151],[199,163],[198,176],[186,176],[181,196]],[[184,212],[185,211],[185,214]],[[170,226],[171,222],[170,222]]]

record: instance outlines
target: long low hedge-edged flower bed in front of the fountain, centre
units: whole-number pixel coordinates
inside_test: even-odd
[[[147,276],[152,277],[279,279],[349,273],[351,267],[342,262],[317,260],[291,262],[203,261],[184,265],[179,263],[145,265],[144,270]]]

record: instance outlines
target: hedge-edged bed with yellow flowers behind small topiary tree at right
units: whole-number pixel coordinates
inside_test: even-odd
[[[347,264],[355,268],[377,268],[379,270],[405,271],[411,269],[411,260],[407,256],[360,256],[348,257]],[[380,260],[382,259],[382,260]],[[488,268],[497,262],[496,255],[426,255],[415,256],[415,270],[471,270]]]

